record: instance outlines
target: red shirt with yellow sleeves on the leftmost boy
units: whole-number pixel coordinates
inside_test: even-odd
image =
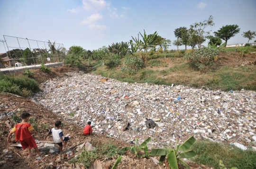
[[[25,140],[29,137],[32,137],[30,134],[30,131],[33,131],[34,127],[31,126],[30,123],[17,123],[15,127],[10,131],[11,133],[16,133],[15,134],[15,140]]]

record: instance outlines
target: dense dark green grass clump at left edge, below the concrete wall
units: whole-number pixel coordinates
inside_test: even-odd
[[[37,93],[40,88],[34,79],[27,76],[15,77],[0,74],[0,92],[18,94],[21,96],[31,96]]]

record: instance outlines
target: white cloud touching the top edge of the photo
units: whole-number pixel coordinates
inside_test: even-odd
[[[82,0],[82,8],[91,11],[99,11],[106,8],[108,4],[105,0]]]

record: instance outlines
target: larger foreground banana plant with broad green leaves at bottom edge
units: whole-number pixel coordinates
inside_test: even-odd
[[[178,145],[177,140],[175,149],[168,147],[152,149],[151,156],[160,156],[159,163],[162,165],[167,155],[169,167],[172,169],[178,169],[178,162],[185,166],[186,169],[190,169],[190,167],[181,158],[190,159],[196,155],[194,151],[188,150],[195,141],[196,139],[191,136],[183,144]]]

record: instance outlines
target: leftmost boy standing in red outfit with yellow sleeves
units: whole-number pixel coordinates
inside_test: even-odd
[[[13,129],[10,131],[8,137],[7,137],[7,142],[9,142],[11,140],[10,136],[13,133],[15,134],[15,140],[19,141],[19,143],[21,144],[22,148],[25,150],[26,148],[28,149],[28,157],[30,158],[36,154],[32,154],[31,149],[34,148],[37,152],[37,156],[43,154],[43,152],[39,152],[38,148],[37,148],[37,144],[35,142],[34,137],[31,134],[36,134],[36,131],[34,130],[34,127],[31,126],[30,123],[27,123],[28,119],[30,117],[30,114],[27,112],[23,112],[20,115],[20,118],[22,119],[21,123],[17,123],[15,125],[15,127],[13,127]]]

